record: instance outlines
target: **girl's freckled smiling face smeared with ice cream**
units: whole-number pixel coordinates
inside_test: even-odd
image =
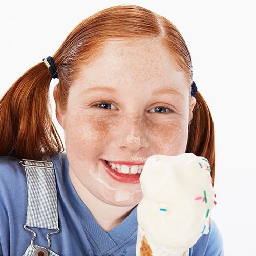
[[[138,204],[146,159],[185,152],[194,105],[189,81],[160,43],[107,42],[57,113],[75,189],[110,205]]]

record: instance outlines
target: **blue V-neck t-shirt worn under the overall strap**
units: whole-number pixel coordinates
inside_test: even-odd
[[[66,255],[135,255],[137,239],[136,208],[118,226],[105,232],[77,195],[68,172],[66,154],[51,156],[57,184],[60,232],[50,236],[50,250]],[[33,234],[23,225],[27,215],[27,181],[25,169],[19,160],[0,157],[0,255],[23,255]],[[34,245],[47,247],[46,235],[52,230],[31,228],[37,236]],[[201,236],[190,248],[190,256],[224,255],[221,234],[211,220],[209,233]]]

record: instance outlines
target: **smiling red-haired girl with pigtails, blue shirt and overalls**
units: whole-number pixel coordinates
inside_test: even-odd
[[[185,41],[138,6],[81,22],[7,91],[0,119],[0,255],[135,255],[149,156],[202,155],[214,178],[214,127]],[[223,255],[213,221],[190,255]]]

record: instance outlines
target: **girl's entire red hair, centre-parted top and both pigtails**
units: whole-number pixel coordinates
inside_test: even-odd
[[[192,81],[190,53],[178,29],[164,17],[139,6],[116,6],[83,20],[52,56],[59,75],[59,104],[66,109],[69,86],[80,63],[87,63],[109,39],[157,39]],[[50,71],[43,62],[20,77],[0,101],[0,155],[41,159],[63,150],[49,112]],[[201,94],[189,125],[186,152],[206,157],[214,177],[214,126]]]

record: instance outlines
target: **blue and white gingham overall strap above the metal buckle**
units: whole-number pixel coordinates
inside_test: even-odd
[[[53,163],[49,157],[44,159],[46,162],[26,159],[22,161],[25,165],[29,165],[25,166],[28,186],[27,226],[58,229],[57,191]]]

